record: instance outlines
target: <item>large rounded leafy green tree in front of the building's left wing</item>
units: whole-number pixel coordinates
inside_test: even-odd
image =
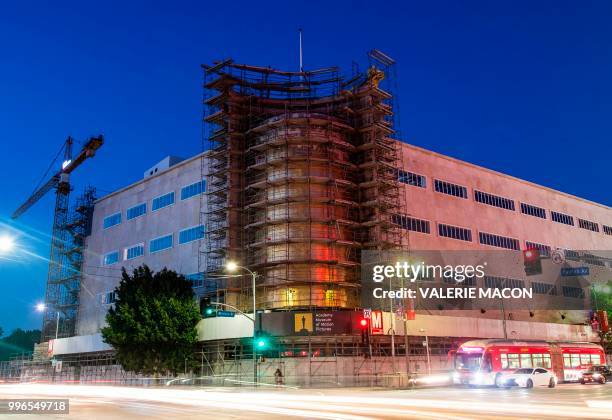
[[[122,270],[115,304],[106,315],[104,341],[126,371],[176,374],[193,357],[200,312],[191,283],[174,271],[146,265]]]

